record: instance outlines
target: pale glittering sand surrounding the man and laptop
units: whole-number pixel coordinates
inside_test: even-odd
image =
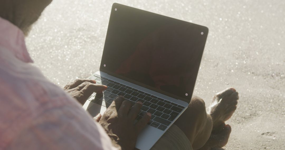
[[[224,149],[285,149],[285,1],[55,0],[27,37],[34,65],[63,87],[99,70],[113,2],[209,28],[194,94],[235,87]]]

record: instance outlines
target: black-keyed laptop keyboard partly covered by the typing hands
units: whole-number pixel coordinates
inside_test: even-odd
[[[145,93],[138,89],[126,86],[119,82],[101,77],[94,74],[89,79],[96,80],[96,84],[108,86],[103,93],[93,93],[88,100],[108,108],[117,96],[123,96],[129,100],[132,105],[137,101],[143,103],[140,113],[138,114],[135,123],[140,120],[145,113],[151,113],[151,119],[148,125],[165,130],[170,123],[181,113],[184,106],[172,103],[160,97],[156,97],[149,93]]]

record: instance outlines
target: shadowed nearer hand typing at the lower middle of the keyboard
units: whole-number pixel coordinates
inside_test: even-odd
[[[133,150],[137,137],[150,120],[151,114],[144,114],[136,124],[135,118],[141,110],[142,102],[132,103],[119,96],[111,103],[101,117],[99,124],[105,129],[115,147]]]

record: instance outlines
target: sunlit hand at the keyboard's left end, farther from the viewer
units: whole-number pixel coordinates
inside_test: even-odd
[[[93,92],[102,93],[107,88],[107,86],[95,83],[95,80],[76,79],[68,82],[63,89],[83,105]]]

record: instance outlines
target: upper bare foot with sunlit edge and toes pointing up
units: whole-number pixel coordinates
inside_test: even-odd
[[[214,96],[212,105],[209,107],[209,114],[213,120],[213,131],[231,118],[237,109],[238,99],[239,93],[234,88],[225,89]]]

